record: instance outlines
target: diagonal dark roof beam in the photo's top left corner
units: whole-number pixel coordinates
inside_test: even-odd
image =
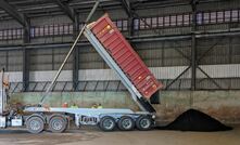
[[[7,1],[0,0],[0,8],[3,9],[10,16],[16,19],[23,27],[28,27],[27,19],[24,14],[17,12],[13,6],[11,6]]]

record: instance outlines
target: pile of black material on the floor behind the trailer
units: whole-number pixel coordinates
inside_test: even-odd
[[[177,117],[166,127],[156,127],[160,130],[179,130],[179,131],[227,131],[231,127],[227,127],[209,115],[195,109],[189,109]]]

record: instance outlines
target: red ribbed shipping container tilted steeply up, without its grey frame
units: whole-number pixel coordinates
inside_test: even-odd
[[[151,74],[116,25],[105,14],[90,24],[91,31],[122,68],[142,96],[150,98],[163,85]]]

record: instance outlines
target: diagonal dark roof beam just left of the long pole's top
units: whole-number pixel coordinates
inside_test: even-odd
[[[61,0],[53,0],[53,1],[63,10],[63,12],[71,18],[71,21],[75,22],[75,13],[72,8],[63,3]]]

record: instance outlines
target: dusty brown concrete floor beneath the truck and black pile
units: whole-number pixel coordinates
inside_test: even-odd
[[[226,132],[70,130],[62,134],[30,134],[25,130],[0,130],[0,145],[239,145],[240,126]]]

